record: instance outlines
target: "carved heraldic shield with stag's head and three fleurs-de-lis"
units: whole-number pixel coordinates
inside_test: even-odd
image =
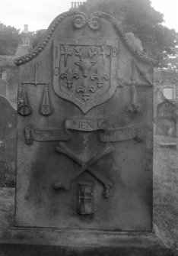
[[[117,40],[63,39],[53,44],[53,89],[59,97],[85,114],[113,96]]]

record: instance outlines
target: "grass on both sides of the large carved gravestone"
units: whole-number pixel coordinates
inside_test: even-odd
[[[178,149],[159,146],[167,141],[178,146],[178,138],[154,137],[154,225],[164,241],[178,250]],[[13,215],[14,189],[0,188],[0,227],[11,225]]]

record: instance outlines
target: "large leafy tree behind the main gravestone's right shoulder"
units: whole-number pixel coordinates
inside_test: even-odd
[[[126,32],[134,33],[150,57],[164,65],[165,54],[174,54],[176,31],[162,25],[164,15],[151,7],[149,0],[87,0],[80,10],[87,15],[103,11],[121,24]]]

